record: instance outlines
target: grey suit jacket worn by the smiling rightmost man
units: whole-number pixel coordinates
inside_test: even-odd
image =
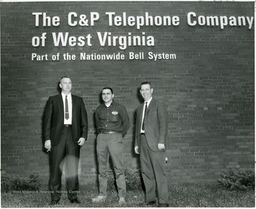
[[[137,108],[136,132],[135,132],[135,146],[140,149],[140,130],[142,127],[142,113],[144,103]],[[149,107],[146,109],[144,116],[144,130],[146,141],[152,151],[160,151],[158,144],[166,144],[167,123],[166,123],[166,107],[164,103],[152,98]]]

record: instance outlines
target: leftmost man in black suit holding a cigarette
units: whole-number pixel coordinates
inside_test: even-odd
[[[44,146],[50,151],[50,205],[60,200],[63,160],[66,160],[68,198],[78,200],[78,161],[80,147],[87,140],[88,124],[85,104],[81,97],[71,94],[70,77],[60,78],[61,94],[49,97],[43,119]]]

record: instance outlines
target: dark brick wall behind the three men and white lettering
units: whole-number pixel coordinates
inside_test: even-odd
[[[95,26],[66,24],[70,12],[101,15]],[[178,26],[108,26],[105,12],[142,16],[179,16]],[[247,26],[188,26],[186,15],[254,16],[253,2],[36,2],[1,3],[1,169],[18,176],[39,171],[48,178],[48,154],[43,151],[42,117],[50,95],[58,94],[58,79],[69,75],[73,93],[83,98],[89,137],[82,147],[80,182],[97,179],[94,112],[102,87],[114,89],[115,100],[127,107],[131,127],[124,138],[124,166],[137,168],[134,154],[135,110],[138,86],[149,80],[154,97],[166,102],[169,132],[166,171],[170,182],[216,181],[230,168],[254,169],[254,28]],[[59,16],[60,26],[35,26],[33,12]],[[42,33],[70,32],[87,36],[97,32],[127,36],[154,36],[154,46],[46,46],[33,47]],[[31,53],[175,53],[172,60],[31,60]]]

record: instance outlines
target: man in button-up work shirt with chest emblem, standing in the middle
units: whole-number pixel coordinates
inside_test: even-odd
[[[97,160],[99,164],[100,193],[92,198],[92,203],[105,201],[107,198],[107,167],[111,156],[117,183],[119,205],[125,205],[126,183],[123,167],[123,136],[129,129],[129,116],[122,104],[113,101],[111,87],[102,90],[104,104],[97,107],[95,118],[97,124]]]

